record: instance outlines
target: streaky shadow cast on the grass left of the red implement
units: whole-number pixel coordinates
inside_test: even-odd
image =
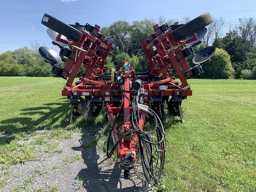
[[[20,110],[17,117],[2,120],[0,132],[22,133],[68,125],[70,102],[46,103],[42,107],[30,107]]]

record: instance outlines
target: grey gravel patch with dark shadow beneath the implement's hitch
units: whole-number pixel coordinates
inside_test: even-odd
[[[59,148],[63,152],[46,153],[44,151],[36,151],[38,158],[34,161],[28,161],[23,164],[15,164],[10,167],[8,183],[2,191],[12,191],[16,187],[24,189],[24,182],[29,176],[33,180],[27,185],[27,189],[38,191],[50,191],[50,187],[59,186],[59,192],[81,191],[81,192],[132,192],[142,191],[142,169],[140,173],[134,174],[131,171],[131,179],[124,180],[123,170],[116,163],[111,163],[106,157],[105,152],[97,148],[93,144],[89,148],[81,147],[83,142],[89,142],[96,137],[86,136],[81,138],[81,133],[74,133],[70,139],[60,141]],[[21,143],[30,142],[22,140]],[[48,142],[56,142],[57,140],[49,140]],[[40,145],[37,145],[40,148]],[[75,161],[74,156],[79,155],[81,158]],[[68,162],[64,158],[68,157]],[[40,175],[35,173],[35,169],[47,172]],[[1,170],[4,173],[4,170]],[[3,175],[7,177],[7,175]],[[84,180],[84,184],[79,188],[77,177]]]

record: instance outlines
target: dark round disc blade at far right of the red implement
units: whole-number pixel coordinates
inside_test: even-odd
[[[205,47],[204,49],[196,53],[192,62],[195,64],[203,63],[204,61],[210,59],[214,53],[215,53],[215,47],[213,46]]]

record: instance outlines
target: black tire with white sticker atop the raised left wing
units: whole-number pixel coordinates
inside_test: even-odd
[[[45,13],[44,17],[41,21],[41,23],[52,29],[53,31],[56,31],[57,33],[60,33],[61,35],[64,35],[68,39],[72,39],[76,42],[79,42],[83,36],[83,33],[70,25],[56,19],[55,17],[52,17],[51,15]]]

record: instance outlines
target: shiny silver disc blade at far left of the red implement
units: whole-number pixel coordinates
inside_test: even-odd
[[[51,65],[57,65],[61,63],[60,55],[49,47],[39,47],[40,55],[44,60],[48,61]]]

